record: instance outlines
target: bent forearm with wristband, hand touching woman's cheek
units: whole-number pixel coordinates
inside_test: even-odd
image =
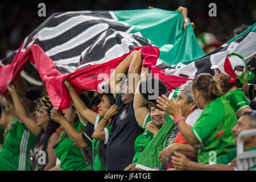
[[[111,122],[110,119],[112,119],[112,117],[115,114],[117,114],[117,110],[118,110],[118,105],[117,104],[114,104],[109,108],[109,110],[104,115],[103,119],[101,119],[100,123],[98,123],[96,129],[94,130],[94,133],[92,135],[92,137],[94,139],[105,140],[106,136],[105,136],[104,128],[106,127],[106,125],[108,125]]]

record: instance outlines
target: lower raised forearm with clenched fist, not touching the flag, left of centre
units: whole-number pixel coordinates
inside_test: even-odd
[[[85,148],[86,143],[82,139],[82,134],[77,131],[64,117],[62,111],[52,108],[51,110],[51,119],[57,123],[60,123],[64,127],[64,130],[67,132],[68,136],[73,142],[77,144],[80,148]]]

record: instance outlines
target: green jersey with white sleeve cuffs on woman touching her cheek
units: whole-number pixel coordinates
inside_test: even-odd
[[[95,125],[94,125],[94,130],[96,129],[98,123],[100,123],[101,121],[101,117],[99,115],[97,115],[96,121],[95,121]],[[105,127],[105,144],[108,143],[108,138],[109,138],[109,134],[110,134],[110,130],[111,130],[111,126]],[[100,161],[100,156],[99,156],[99,144],[100,144],[101,140],[96,140],[93,139],[92,140],[92,150],[93,150],[93,171],[107,171],[107,167],[106,167],[106,163],[105,165],[101,168],[101,161]]]

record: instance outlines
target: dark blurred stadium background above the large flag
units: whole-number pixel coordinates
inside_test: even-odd
[[[46,17],[38,16],[38,4],[46,4]],[[209,3],[217,5],[217,17],[210,17]],[[221,43],[233,38],[233,29],[241,24],[256,22],[256,1],[254,0],[84,0],[84,1],[13,1],[0,2],[0,59],[7,50],[18,49],[40,23],[52,13],[80,10],[132,10],[147,9],[148,6],[164,10],[176,10],[179,6],[188,8],[188,16],[195,23],[195,34],[211,32]]]

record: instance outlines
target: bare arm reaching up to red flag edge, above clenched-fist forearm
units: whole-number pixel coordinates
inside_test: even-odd
[[[98,114],[95,113],[94,111],[90,110],[84,104],[84,102],[81,100],[79,95],[76,93],[76,90],[73,88],[73,86],[71,85],[71,83],[69,81],[65,81],[64,83],[65,83],[65,86],[68,88],[69,93],[71,94],[73,104],[75,105],[76,110],[79,111],[79,113],[82,115],[82,117],[84,117],[90,123],[92,123],[92,125],[94,125]]]

